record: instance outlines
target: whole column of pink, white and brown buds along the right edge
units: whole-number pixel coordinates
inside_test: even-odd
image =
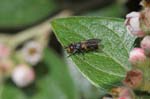
[[[134,36],[142,38],[140,47],[133,48],[129,62],[133,66],[127,72],[124,84],[132,89],[150,92],[150,0],[143,0],[144,10],[131,12],[126,16],[127,30]]]

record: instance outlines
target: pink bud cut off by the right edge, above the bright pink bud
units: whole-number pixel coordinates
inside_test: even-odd
[[[150,56],[150,36],[144,37],[141,42],[141,47],[147,56]]]

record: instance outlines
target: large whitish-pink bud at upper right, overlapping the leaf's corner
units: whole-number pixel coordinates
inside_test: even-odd
[[[143,37],[145,33],[142,31],[140,27],[140,13],[139,12],[131,12],[126,16],[125,25],[127,30],[135,36]]]

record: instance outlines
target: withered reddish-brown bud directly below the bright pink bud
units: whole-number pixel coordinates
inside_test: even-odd
[[[143,81],[143,73],[140,70],[131,70],[127,72],[126,78],[123,81],[125,85],[130,88],[136,89],[141,86]]]

